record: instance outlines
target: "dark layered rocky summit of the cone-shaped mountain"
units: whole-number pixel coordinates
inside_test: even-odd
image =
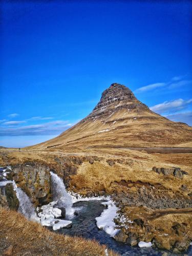
[[[84,118],[83,121],[93,117],[107,116],[110,115],[112,111],[118,111],[120,109],[141,108],[148,110],[148,107],[140,102],[129,88],[120,83],[112,83],[111,86],[102,93],[100,101],[91,114]]]

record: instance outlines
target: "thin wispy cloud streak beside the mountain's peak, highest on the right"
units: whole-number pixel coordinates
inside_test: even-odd
[[[180,88],[180,87],[185,87],[189,86],[190,84],[192,85],[192,80],[184,80],[185,76],[175,76],[170,81],[168,82],[157,82],[157,83],[152,83],[148,84],[147,86],[140,87],[134,91],[134,93],[142,93],[146,91],[151,91],[151,90],[156,90],[158,88],[163,88],[163,89],[175,89],[175,88]]]

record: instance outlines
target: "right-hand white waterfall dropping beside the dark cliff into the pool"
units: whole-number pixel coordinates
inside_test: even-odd
[[[74,214],[73,199],[70,194],[67,192],[65,184],[62,179],[59,178],[56,174],[50,172],[51,181],[52,181],[52,194],[53,200],[57,201],[57,207],[66,208],[66,216],[70,217]]]

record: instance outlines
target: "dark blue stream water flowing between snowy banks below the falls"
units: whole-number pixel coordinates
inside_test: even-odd
[[[117,242],[115,239],[111,238],[109,234],[105,233],[103,230],[99,230],[96,225],[95,218],[100,216],[105,206],[101,204],[103,201],[79,201],[73,204],[78,213],[72,221],[71,228],[61,228],[55,232],[60,234],[67,234],[68,236],[81,236],[86,239],[95,239],[100,244],[105,244],[108,248],[118,252],[121,255],[162,255],[165,250],[155,250],[150,248],[139,248],[131,247],[121,242]],[[77,210],[79,209],[79,210]],[[68,218],[66,218],[68,219]],[[51,227],[48,227],[52,230]],[[174,254],[172,254],[174,255]]]

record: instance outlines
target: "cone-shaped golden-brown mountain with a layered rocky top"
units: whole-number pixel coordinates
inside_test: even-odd
[[[86,118],[58,137],[33,148],[182,145],[192,145],[192,127],[154,113],[129,88],[112,83]]]

